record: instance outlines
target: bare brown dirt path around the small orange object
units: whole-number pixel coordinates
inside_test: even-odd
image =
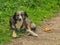
[[[38,37],[24,35],[6,45],[60,45],[60,14],[52,19],[45,19],[42,23],[37,27]],[[51,28],[51,31],[44,32],[46,27]]]

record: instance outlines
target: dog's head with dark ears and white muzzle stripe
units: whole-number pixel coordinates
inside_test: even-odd
[[[16,20],[19,20],[19,21],[25,19],[26,17],[28,17],[28,16],[27,16],[27,13],[24,12],[24,11],[17,11],[13,15],[13,18],[16,19]]]

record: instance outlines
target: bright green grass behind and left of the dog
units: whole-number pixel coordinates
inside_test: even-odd
[[[44,18],[51,18],[59,11],[60,0],[0,0],[0,45],[11,41],[10,16],[24,10],[28,17],[40,25]]]

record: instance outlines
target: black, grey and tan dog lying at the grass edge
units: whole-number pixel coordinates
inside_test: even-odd
[[[25,11],[16,11],[10,17],[10,27],[12,30],[12,37],[17,37],[16,30],[24,29],[33,36],[38,36],[33,30],[36,30],[36,25],[28,19]]]

